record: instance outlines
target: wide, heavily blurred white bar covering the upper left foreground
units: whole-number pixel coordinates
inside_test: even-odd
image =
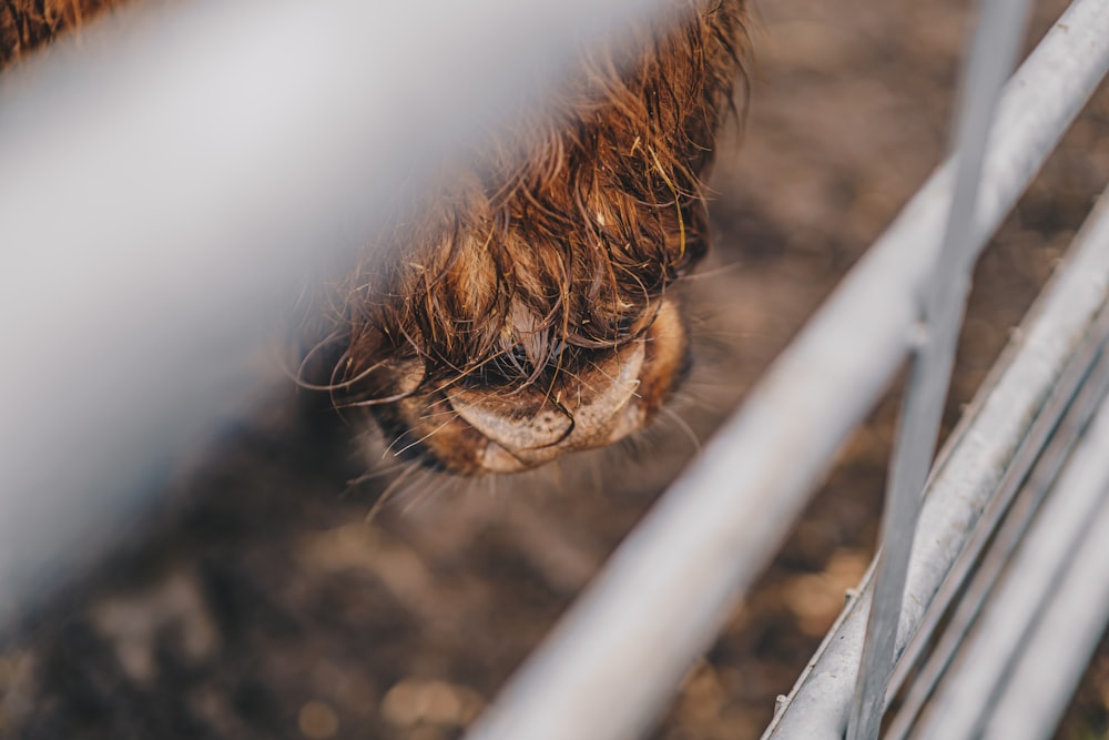
[[[398,183],[658,0],[196,0],[0,77],[0,621],[281,374]]]

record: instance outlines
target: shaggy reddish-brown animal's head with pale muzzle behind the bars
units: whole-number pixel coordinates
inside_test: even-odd
[[[0,63],[110,2],[0,0]],[[469,475],[649,424],[686,364],[670,288],[708,247],[701,179],[744,20],[744,0],[671,0],[583,50],[547,110],[444,164],[338,287],[305,385]]]

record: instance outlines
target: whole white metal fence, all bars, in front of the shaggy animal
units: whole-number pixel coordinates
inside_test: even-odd
[[[612,12],[604,20],[619,22],[620,12],[650,4],[608,3]],[[390,34],[405,28],[405,11],[385,19],[386,11],[364,6],[334,1],[314,12],[325,9],[337,28],[380,27]],[[425,53],[445,62],[434,89],[417,81],[398,91],[389,74],[373,81],[352,75],[352,69],[391,69],[403,33],[376,47],[362,34],[315,36],[308,30],[322,28],[318,18],[305,22],[303,9],[285,2],[267,4],[261,17],[201,3],[189,11],[197,13],[191,20],[181,10],[155,19],[146,43],[159,48],[156,70],[135,72],[129,60],[102,70],[118,84],[113,109],[88,100],[67,109],[37,99],[37,85],[90,73],[59,54],[34,75],[23,74],[26,89],[6,91],[0,211],[8,243],[19,246],[4,254],[0,315],[6,349],[18,362],[0,366],[0,387],[21,391],[0,417],[0,597],[19,598],[27,579],[57,565],[58,548],[41,543],[87,535],[88,520],[73,524],[60,513],[82,498],[82,510],[111,510],[122,494],[147,488],[166,450],[211,426],[227,399],[256,381],[244,371],[252,346],[244,337],[269,326],[264,317],[275,296],[316,261],[318,235],[328,232],[321,224],[349,224],[353,212],[365,212],[395,172],[389,162],[411,166],[390,158],[398,132],[420,138],[429,150],[457,136],[456,130],[427,128],[416,104],[421,97],[468,94],[495,110],[491,101],[502,99],[502,88],[528,77],[503,77],[520,72],[521,50],[550,62],[586,10],[590,22],[598,20],[588,2],[486,2],[468,4],[457,27],[478,29],[482,13],[502,19],[513,8],[521,19],[532,13],[533,22],[521,28],[535,33],[521,33],[510,47],[497,48],[503,34],[469,39],[461,51],[447,36],[427,45]],[[459,13],[449,2],[421,3],[420,12]],[[1106,199],[932,464],[975,260],[1109,70],[1109,3],[1077,0],[1006,82],[1026,16],[1024,0],[984,0],[950,160],[620,547],[478,721],[472,740],[615,740],[644,731],[906,359],[912,373],[881,556],[764,737],[874,738],[887,707],[896,709],[886,720],[889,737],[1050,732],[1109,620]],[[199,75],[195,53],[175,43],[189,36],[181,31],[183,19],[222,29],[205,47]],[[245,50],[243,38],[252,39]],[[285,69],[294,39],[298,65]],[[498,51],[516,63],[500,77],[492,72],[499,68],[482,62]],[[305,65],[305,58],[312,63]],[[269,79],[260,70],[273,69],[284,70],[281,90],[263,85],[253,99],[242,94],[245,81]],[[467,82],[472,80],[484,87]],[[370,87],[374,94],[365,92]],[[350,94],[355,88],[360,94]],[[159,97],[164,89],[171,92]],[[222,115],[200,131],[205,143],[197,151],[173,151],[166,142],[177,139],[182,121],[196,123],[196,110]],[[397,118],[397,110],[411,115]],[[87,125],[77,133],[41,125],[64,115],[83,116]],[[263,124],[275,120],[287,125],[260,142]],[[273,151],[313,151],[324,130],[334,136],[323,154],[304,162],[265,159]],[[190,131],[194,146],[196,135]],[[367,140],[378,148],[367,149]],[[59,151],[67,156],[53,158]],[[44,161],[57,168],[43,168]],[[364,169],[352,169],[357,161],[380,164],[366,179]],[[122,173],[121,162],[128,163]],[[306,178],[293,189],[261,186],[275,166]],[[324,192],[345,196],[318,197]],[[134,217],[119,217],[112,204],[120,202],[123,215]],[[294,203],[297,209],[289,207]],[[373,215],[370,209],[359,217]],[[202,229],[167,231],[166,223]],[[348,241],[334,236],[340,245]],[[165,245],[156,259],[144,251],[154,240]],[[208,249],[195,250],[197,242]],[[272,266],[261,275],[252,272],[257,243],[266,244]],[[152,274],[160,280],[151,282]],[[119,291],[106,297],[105,277]],[[197,286],[210,294],[201,308]],[[54,312],[50,300],[59,290],[70,300],[87,298],[85,310],[77,317]],[[136,317],[135,302],[161,312],[157,321]],[[251,306],[245,313],[225,311],[244,302]],[[32,331],[23,321],[28,312],[39,320]],[[226,315],[242,321],[212,321]],[[119,330],[112,346],[125,349],[110,358],[87,338],[105,326]],[[146,330],[155,345],[131,347],[128,337]],[[192,338],[182,344],[180,336]],[[74,347],[84,348],[78,354],[87,363],[85,379],[75,386],[71,365],[43,362]],[[216,355],[224,361],[218,372],[195,362]],[[130,377],[123,369],[134,366],[144,374]],[[167,374],[185,378],[169,397]],[[142,413],[105,435],[100,430],[118,396],[102,389],[112,385],[138,398],[132,405]],[[57,427],[31,423],[42,394],[61,387],[71,395],[57,403],[71,403],[80,419],[64,439]],[[199,397],[207,403],[197,406]],[[153,468],[121,477],[119,463],[135,459],[136,445]],[[59,447],[81,455],[64,468],[51,466]],[[90,507],[88,496],[99,496],[100,506]],[[78,528],[59,529],[59,523]],[[1045,671],[1052,676],[1049,689],[1038,680]]]

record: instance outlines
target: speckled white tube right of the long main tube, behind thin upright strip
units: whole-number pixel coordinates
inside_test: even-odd
[[[1109,295],[1107,212],[1109,196],[1076,237],[1067,262],[1015,333],[940,454],[910,560],[898,652],[920,625],[978,517],[1021,457],[1029,428],[1046,407],[1054,406],[1054,389],[1070,369],[1070,358],[1090,341],[1091,327]],[[802,673],[765,739],[842,738],[871,594],[867,578],[859,598],[845,608]]]

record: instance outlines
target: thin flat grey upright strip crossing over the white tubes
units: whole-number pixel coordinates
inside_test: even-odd
[[[924,344],[913,365],[886,495],[882,556],[863,643],[847,737],[877,738],[895,660],[909,553],[920,496],[936,448],[974,265],[974,215],[994,113],[1016,63],[1028,19],[1027,0],[984,0],[963,81],[956,136],[955,187],[944,250],[924,296]]]

